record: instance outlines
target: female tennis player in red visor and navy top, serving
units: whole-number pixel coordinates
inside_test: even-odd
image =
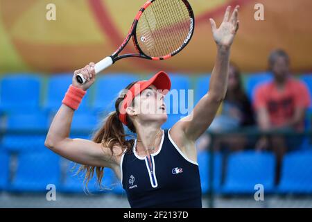
[[[90,63],[74,72],[73,83],[51,123],[45,145],[82,164],[80,169],[85,171],[87,181],[96,171],[101,182],[103,169],[111,168],[120,178],[131,207],[202,207],[195,142],[207,130],[225,97],[230,47],[239,28],[238,10],[236,6],[230,15],[227,7],[219,28],[210,19],[217,56],[209,92],[189,116],[172,128],[161,128],[167,119],[164,96],[171,81],[160,71],[149,80],[125,87],[127,90],[116,99],[116,110],[105,118],[92,141],[70,139],[74,110],[96,78],[94,63]],[[80,85],[77,74],[83,74],[87,83]],[[156,109],[150,112],[149,107]],[[123,124],[136,133],[137,139],[125,139]]]

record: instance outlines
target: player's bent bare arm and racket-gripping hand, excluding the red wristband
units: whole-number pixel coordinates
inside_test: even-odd
[[[90,63],[84,69],[75,71],[75,75],[81,73],[88,80],[82,86],[84,90],[87,90],[94,83],[96,75],[93,67],[94,64]],[[80,87],[75,75],[73,75],[73,86]],[[102,144],[87,139],[69,138],[73,113],[72,108],[64,104],[61,105],[53,118],[44,145],[62,157],[79,164],[94,167],[112,167],[116,161],[110,148],[105,148]]]

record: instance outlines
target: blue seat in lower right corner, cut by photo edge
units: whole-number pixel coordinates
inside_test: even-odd
[[[294,152],[284,156],[279,193],[312,194],[312,152]]]

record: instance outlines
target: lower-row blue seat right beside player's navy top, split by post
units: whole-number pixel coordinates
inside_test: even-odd
[[[207,194],[210,189],[209,184],[209,163],[210,154],[208,151],[202,151],[198,153],[198,166],[200,171],[200,182],[202,185],[202,193]],[[222,178],[222,155],[220,153],[214,153],[214,191],[218,192],[221,185]]]

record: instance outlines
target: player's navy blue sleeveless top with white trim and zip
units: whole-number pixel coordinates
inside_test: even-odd
[[[202,207],[198,164],[189,160],[163,130],[156,153],[148,157],[132,152],[121,157],[121,182],[131,207]]]

